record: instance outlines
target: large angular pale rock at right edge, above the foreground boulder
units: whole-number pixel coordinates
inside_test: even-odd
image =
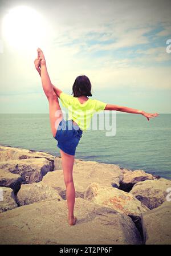
[[[133,186],[131,194],[149,209],[154,209],[166,201],[166,189],[171,188],[171,181],[166,179],[146,180]]]

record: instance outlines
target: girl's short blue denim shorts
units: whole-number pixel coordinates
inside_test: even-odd
[[[57,147],[68,155],[74,156],[82,133],[79,125],[74,124],[72,120],[62,119],[54,137],[58,141]]]

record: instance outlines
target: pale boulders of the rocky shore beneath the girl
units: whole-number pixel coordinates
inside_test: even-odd
[[[70,226],[60,157],[0,146],[0,244],[171,244],[170,180],[79,159],[73,176]]]

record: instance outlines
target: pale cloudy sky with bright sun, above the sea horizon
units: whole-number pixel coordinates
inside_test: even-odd
[[[48,113],[37,47],[52,84],[67,94],[87,75],[93,99],[171,113],[171,1],[0,3],[0,113]]]

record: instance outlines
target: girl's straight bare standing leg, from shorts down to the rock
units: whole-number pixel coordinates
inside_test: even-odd
[[[68,223],[70,225],[75,225],[76,217],[74,217],[74,205],[75,205],[75,187],[72,177],[74,158],[75,156],[68,155],[60,150],[60,155],[62,157],[62,167],[64,174],[64,182],[66,184],[66,196],[68,204]]]

